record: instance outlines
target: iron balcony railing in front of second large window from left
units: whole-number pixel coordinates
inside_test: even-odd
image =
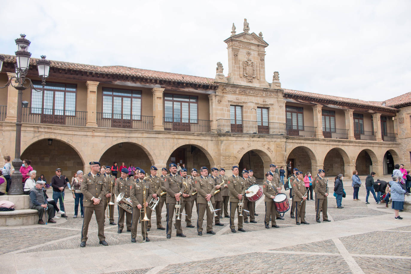
[[[120,129],[153,129],[154,116],[112,114],[97,112],[97,127]]]

